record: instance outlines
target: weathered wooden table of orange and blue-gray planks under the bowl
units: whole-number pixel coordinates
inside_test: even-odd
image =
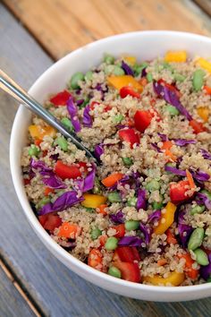
[[[108,35],[167,29],[210,36],[210,13],[210,0],[4,0],[0,67],[28,89],[54,60]],[[8,158],[16,110],[0,91],[0,316],[210,316],[208,298],[162,304],[109,293],[46,250],[13,190]]]

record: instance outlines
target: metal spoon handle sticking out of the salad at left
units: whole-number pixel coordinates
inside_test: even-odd
[[[99,164],[98,159],[94,154],[81,144],[80,139],[75,133],[68,131],[65,126],[56,119],[55,116],[51,115],[44,107],[42,107],[38,101],[33,99],[25,90],[23,90],[12,78],[10,78],[6,73],[0,69],[0,88],[10,94],[14,99],[19,102],[23,102],[26,107],[28,107],[34,114],[40,116],[47,124],[52,125],[56,130],[63,134],[66,138],[71,139],[78,149],[85,150],[86,155],[94,159],[97,164]]]

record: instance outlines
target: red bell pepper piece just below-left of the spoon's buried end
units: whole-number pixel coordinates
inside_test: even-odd
[[[69,167],[68,165],[63,164],[61,160],[57,160],[57,162],[55,163],[55,174],[62,179],[75,179],[81,176],[80,167],[76,167],[74,165]]]

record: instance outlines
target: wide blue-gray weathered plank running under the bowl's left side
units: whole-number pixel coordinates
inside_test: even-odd
[[[0,67],[26,89],[53,63],[2,4],[0,39]],[[117,296],[78,277],[46,250],[23,215],[10,176],[9,139],[16,107],[0,92],[0,255],[40,310],[56,317],[209,316],[210,298],[165,304]]]

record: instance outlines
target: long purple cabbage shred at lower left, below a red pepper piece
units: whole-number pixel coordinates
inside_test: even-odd
[[[83,197],[79,198],[77,196],[78,193],[75,191],[63,193],[55,200],[55,202],[46,203],[46,205],[44,205],[41,210],[38,211],[38,215],[41,216],[53,211],[66,210],[67,208],[70,208],[84,200]]]

